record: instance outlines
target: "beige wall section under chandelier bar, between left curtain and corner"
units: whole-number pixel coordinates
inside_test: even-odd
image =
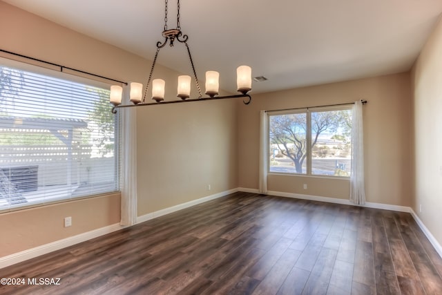
[[[155,106],[137,116],[139,215],[238,187],[235,101]]]

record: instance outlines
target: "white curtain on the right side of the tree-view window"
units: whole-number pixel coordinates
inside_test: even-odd
[[[365,204],[364,183],[364,140],[363,140],[363,104],[354,102],[352,126],[352,175],[350,176],[350,200],[354,204]]]

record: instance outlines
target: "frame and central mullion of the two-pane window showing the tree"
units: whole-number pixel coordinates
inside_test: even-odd
[[[296,176],[296,177],[309,177],[309,178],[329,178],[329,179],[345,179],[349,180],[351,177],[351,174],[348,176],[344,175],[321,175],[321,174],[314,174],[312,173],[312,160],[313,156],[311,154],[312,147],[311,147],[311,140],[312,140],[312,130],[311,130],[311,113],[317,113],[317,112],[327,112],[327,111],[348,111],[352,110],[353,105],[347,104],[347,105],[337,105],[337,106],[318,106],[318,107],[307,107],[307,108],[294,108],[294,109],[287,109],[282,111],[267,111],[267,151],[271,151],[270,146],[270,117],[271,116],[277,116],[277,115],[291,115],[291,114],[298,114],[298,113],[305,113],[306,114],[306,158],[305,158],[305,173],[294,173],[294,172],[278,172],[278,171],[271,171],[271,164],[270,164],[270,158],[268,159],[268,165],[267,165],[267,174],[268,175],[284,175],[284,176]],[[350,144],[353,145],[351,142]],[[269,156],[270,157],[270,156]],[[350,172],[351,173],[351,172]]]

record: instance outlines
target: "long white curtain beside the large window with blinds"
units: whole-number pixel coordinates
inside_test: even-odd
[[[129,102],[129,87],[123,89],[123,103]],[[119,108],[121,120],[120,137],[120,190],[122,192],[120,225],[130,226],[137,223],[137,110]]]

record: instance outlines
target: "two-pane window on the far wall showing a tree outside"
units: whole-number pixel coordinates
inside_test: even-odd
[[[269,113],[269,172],[349,177],[352,109]]]

